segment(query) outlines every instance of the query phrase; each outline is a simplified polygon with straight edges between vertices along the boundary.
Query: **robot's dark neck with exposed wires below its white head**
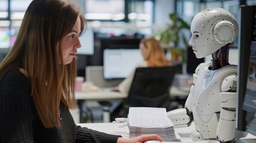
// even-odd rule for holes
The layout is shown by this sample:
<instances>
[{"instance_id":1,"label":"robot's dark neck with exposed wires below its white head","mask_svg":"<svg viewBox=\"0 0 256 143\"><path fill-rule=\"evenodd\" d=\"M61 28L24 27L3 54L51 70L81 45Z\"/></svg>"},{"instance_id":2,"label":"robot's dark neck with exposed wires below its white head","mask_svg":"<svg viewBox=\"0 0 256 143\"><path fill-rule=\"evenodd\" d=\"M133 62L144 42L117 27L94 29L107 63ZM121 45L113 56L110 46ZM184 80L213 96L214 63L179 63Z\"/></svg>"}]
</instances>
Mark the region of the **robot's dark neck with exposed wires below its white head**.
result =
<instances>
[{"instance_id":1,"label":"robot's dark neck with exposed wires below its white head","mask_svg":"<svg viewBox=\"0 0 256 143\"><path fill-rule=\"evenodd\" d=\"M211 70L217 70L221 67L230 65L229 64L229 48L230 43L228 43L225 46L222 46L220 49L218 49L216 52L212 53L212 69Z\"/></svg>"}]
</instances>

